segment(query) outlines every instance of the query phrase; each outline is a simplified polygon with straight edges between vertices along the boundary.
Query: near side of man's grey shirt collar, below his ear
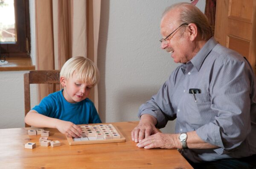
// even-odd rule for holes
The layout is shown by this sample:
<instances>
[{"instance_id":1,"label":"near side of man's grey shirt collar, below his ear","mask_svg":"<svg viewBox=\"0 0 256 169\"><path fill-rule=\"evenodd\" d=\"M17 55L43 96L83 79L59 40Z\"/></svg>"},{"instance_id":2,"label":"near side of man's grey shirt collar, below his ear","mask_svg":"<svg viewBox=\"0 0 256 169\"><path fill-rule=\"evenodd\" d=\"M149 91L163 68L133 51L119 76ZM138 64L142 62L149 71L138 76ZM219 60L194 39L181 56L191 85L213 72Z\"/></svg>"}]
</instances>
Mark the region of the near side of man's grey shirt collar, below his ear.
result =
<instances>
[{"instance_id":1,"label":"near side of man's grey shirt collar, below his ear","mask_svg":"<svg viewBox=\"0 0 256 169\"><path fill-rule=\"evenodd\" d=\"M204 62L204 59L207 57L207 55L212 51L212 48L215 47L218 43L215 41L214 37L211 37L201 48L201 50L191 59L190 62L195 66L195 68L199 71L201 68L201 65Z\"/></svg>"}]
</instances>

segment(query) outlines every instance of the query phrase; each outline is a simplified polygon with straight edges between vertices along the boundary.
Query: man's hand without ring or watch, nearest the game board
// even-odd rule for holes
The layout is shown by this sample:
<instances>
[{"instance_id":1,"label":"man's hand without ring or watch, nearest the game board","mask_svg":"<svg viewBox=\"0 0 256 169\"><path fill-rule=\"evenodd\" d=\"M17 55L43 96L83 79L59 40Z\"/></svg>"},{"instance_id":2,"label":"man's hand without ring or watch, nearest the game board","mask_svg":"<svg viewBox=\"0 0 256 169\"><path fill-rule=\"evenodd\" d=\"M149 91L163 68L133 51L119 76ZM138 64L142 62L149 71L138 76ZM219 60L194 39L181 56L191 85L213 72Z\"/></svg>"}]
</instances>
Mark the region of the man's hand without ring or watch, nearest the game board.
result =
<instances>
[{"instance_id":1,"label":"man's hand without ring or watch, nearest the game board","mask_svg":"<svg viewBox=\"0 0 256 169\"><path fill-rule=\"evenodd\" d=\"M140 123L134 128L134 130L131 131L132 141L137 143L144 138L159 132L155 127L155 124L157 124L156 118L147 114L142 115L140 118Z\"/></svg>"}]
</instances>

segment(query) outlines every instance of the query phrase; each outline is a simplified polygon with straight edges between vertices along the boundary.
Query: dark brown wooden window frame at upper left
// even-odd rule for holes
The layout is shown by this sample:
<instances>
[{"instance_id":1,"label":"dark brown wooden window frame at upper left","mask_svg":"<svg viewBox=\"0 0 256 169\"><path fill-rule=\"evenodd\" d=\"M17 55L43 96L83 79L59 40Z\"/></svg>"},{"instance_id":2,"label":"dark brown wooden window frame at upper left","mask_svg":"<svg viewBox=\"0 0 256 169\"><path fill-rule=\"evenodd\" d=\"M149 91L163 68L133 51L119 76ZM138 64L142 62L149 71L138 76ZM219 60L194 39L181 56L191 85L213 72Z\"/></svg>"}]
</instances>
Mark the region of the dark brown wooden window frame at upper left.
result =
<instances>
[{"instance_id":1,"label":"dark brown wooden window frame at upper left","mask_svg":"<svg viewBox=\"0 0 256 169\"><path fill-rule=\"evenodd\" d=\"M29 0L14 0L17 42L0 42L1 57L30 57Z\"/></svg>"}]
</instances>

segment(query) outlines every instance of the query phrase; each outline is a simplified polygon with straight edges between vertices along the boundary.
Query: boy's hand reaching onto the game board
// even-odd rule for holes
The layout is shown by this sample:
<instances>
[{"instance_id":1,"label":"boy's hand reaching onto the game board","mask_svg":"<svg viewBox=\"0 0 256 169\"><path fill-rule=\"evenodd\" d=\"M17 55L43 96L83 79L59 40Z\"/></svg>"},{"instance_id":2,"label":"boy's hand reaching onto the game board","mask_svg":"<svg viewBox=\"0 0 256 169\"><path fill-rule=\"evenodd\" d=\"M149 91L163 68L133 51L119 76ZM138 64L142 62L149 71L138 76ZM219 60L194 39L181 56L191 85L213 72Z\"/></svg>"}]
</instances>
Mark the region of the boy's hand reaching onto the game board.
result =
<instances>
[{"instance_id":1,"label":"boy's hand reaching onto the game board","mask_svg":"<svg viewBox=\"0 0 256 169\"><path fill-rule=\"evenodd\" d=\"M67 136L72 136L74 138L78 138L81 136L81 132L82 130L77 127L76 124L73 124L70 121L63 121L63 120L59 120L56 123L56 128L63 134L67 135Z\"/></svg>"}]
</instances>

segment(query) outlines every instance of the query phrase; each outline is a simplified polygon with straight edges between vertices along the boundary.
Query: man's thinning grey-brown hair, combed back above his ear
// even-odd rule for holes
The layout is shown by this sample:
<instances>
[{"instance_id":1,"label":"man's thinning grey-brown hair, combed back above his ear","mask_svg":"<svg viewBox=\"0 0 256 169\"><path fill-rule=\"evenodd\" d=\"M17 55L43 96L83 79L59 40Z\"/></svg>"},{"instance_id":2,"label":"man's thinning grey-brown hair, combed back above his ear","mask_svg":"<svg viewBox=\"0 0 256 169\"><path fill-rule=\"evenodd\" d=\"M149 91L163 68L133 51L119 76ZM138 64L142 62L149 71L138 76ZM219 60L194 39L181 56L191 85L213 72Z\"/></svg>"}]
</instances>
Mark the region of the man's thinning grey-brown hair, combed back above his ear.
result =
<instances>
[{"instance_id":1,"label":"man's thinning grey-brown hair, combed back above his ear","mask_svg":"<svg viewBox=\"0 0 256 169\"><path fill-rule=\"evenodd\" d=\"M208 40L210 37L212 37L212 28L207 17L200 11L200 9L190 3L175 3L166 8L162 17L164 17L169 11L176 8L178 8L180 11L180 24L195 23L195 25L198 27L198 31L202 35L202 39Z\"/></svg>"}]
</instances>

